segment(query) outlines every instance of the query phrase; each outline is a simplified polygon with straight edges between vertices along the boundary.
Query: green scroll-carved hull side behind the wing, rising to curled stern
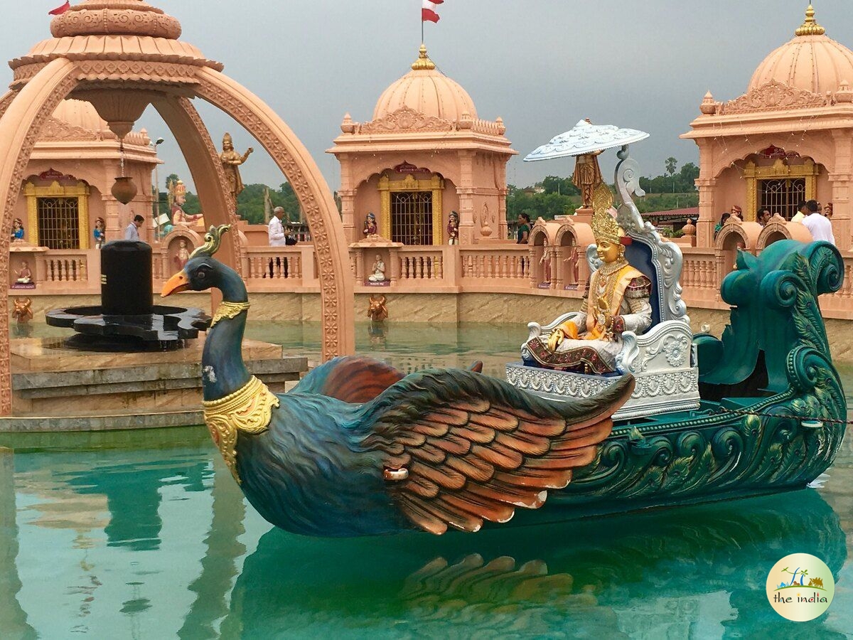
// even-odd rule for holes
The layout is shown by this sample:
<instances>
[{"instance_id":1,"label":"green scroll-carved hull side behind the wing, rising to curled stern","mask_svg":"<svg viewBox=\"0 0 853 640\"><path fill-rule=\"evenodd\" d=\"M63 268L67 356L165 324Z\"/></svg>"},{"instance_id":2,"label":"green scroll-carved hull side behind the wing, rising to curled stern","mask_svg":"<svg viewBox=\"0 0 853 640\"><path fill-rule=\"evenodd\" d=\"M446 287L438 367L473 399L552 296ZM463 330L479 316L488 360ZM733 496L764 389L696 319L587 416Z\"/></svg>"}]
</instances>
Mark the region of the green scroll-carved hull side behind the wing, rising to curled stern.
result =
<instances>
[{"instance_id":1,"label":"green scroll-carved hull side behind the wing, rising to curled stern","mask_svg":"<svg viewBox=\"0 0 853 640\"><path fill-rule=\"evenodd\" d=\"M572 494L588 497L593 491L600 498L648 503L665 495L671 503L672 497L707 492L798 486L814 477L815 469L825 468L832 459L843 430L809 428L804 419L830 419L844 406L844 397L820 353L801 347L792 351L789 363L792 378L811 386L810 391L781 393L753 405L746 415L700 418L692 428L691 422L682 422L680 429L668 433L651 429L632 435L623 428L620 437L605 443L593 465L575 475L560 499L571 503Z\"/></svg>"}]
</instances>

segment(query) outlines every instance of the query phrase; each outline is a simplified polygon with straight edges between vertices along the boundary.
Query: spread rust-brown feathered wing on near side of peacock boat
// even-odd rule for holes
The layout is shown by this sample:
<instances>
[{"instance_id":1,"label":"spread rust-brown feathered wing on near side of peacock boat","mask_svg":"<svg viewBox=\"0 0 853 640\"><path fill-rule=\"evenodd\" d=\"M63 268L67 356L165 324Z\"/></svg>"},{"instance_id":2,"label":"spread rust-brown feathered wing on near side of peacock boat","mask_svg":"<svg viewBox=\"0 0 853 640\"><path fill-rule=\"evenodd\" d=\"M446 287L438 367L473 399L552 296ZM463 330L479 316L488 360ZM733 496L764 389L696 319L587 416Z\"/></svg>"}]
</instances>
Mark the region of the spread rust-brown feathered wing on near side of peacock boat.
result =
<instances>
[{"instance_id":1,"label":"spread rust-brown feathered wing on near side of peacock boat","mask_svg":"<svg viewBox=\"0 0 853 640\"><path fill-rule=\"evenodd\" d=\"M365 405L362 445L380 452L388 489L416 526L475 532L565 487L633 389L626 375L595 398L549 403L485 375L422 371Z\"/></svg>"}]
</instances>

